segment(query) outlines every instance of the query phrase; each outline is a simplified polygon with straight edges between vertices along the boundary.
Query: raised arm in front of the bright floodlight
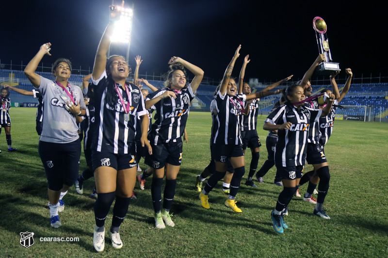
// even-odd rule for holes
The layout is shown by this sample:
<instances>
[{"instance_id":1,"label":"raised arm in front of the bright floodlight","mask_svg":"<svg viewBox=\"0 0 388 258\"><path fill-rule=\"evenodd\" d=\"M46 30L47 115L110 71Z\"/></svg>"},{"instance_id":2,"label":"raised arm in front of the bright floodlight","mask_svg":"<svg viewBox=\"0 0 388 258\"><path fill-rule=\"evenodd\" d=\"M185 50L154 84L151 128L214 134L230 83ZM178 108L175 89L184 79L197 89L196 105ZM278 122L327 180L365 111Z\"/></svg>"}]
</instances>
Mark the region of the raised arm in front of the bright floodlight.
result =
<instances>
[{"instance_id":1,"label":"raised arm in front of the bright floodlight","mask_svg":"<svg viewBox=\"0 0 388 258\"><path fill-rule=\"evenodd\" d=\"M124 1L122 2L122 7L124 8ZM106 66L106 54L108 52L109 46L111 45L111 37L113 35L114 22L120 19L120 12L117 10L116 5L109 6L110 20L109 24L106 27L104 34L102 34L100 43L97 47L96 58L93 65L93 79L97 80L102 73L105 71Z\"/></svg>"}]
</instances>

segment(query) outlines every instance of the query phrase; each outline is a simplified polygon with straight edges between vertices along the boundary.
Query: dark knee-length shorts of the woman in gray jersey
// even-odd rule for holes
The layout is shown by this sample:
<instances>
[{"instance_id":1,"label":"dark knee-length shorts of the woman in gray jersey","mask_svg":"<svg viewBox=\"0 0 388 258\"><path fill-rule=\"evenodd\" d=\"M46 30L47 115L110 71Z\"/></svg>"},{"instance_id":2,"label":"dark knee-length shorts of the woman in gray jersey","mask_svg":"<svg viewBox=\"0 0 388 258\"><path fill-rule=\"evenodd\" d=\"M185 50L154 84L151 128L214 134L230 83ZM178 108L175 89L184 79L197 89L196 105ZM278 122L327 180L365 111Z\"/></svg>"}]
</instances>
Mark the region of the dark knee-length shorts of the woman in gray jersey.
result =
<instances>
[{"instance_id":1,"label":"dark knee-length shorts of the woman in gray jersey","mask_svg":"<svg viewBox=\"0 0 388 258\"><path fill-rule=\"evenodd\" d=\"M59 191L77 180L80 167L81 145L77 140L69 143L39 141L38 152L45 167L49 189Z\"/></svg>"}]
</instances>

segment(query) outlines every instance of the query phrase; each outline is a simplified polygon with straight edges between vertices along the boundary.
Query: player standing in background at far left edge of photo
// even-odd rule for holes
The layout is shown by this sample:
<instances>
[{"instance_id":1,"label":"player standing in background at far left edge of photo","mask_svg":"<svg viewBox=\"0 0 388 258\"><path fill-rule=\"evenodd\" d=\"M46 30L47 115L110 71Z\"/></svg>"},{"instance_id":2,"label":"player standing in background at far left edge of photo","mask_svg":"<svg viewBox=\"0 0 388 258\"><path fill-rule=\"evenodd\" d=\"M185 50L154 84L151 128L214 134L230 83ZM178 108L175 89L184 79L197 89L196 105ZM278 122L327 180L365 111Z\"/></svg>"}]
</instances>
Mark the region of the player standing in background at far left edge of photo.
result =
<instances>
[{"instance_id":1,"label":"player standing in background at far left edge of photo","mask_svg":"<svg viewBox=\"0 0 388 258\"><path fill-rule=\"evenodd\" d=\"M11 118L9 109L11 108L11 99L9 98L9 89L2 87L0 89L0 134L1 128L4 127L5 138L7 139L8 152L16 152L17 149L12 148L11 139ZM1 153L1 151L0 151Z\"/></svg>"}]
</instances>

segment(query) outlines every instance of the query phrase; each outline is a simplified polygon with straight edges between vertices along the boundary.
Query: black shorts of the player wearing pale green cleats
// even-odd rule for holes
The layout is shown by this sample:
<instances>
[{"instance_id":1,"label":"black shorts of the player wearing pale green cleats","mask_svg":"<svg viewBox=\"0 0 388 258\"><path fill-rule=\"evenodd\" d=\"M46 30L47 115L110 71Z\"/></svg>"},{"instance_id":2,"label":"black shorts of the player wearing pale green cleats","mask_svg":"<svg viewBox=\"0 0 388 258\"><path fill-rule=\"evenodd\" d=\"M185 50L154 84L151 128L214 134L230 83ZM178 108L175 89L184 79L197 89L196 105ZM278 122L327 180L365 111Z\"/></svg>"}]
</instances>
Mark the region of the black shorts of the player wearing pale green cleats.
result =
<instances>
[{"instance_id":1,"label":"black shorts of the player wearing pale green cleats","mask_svg":"<svg viewBox=\"0 0 388 258\"><path fill-rule=\"evenodd\" d=\"M166 142L158 145L151 144L152 155L148 152L144 163L149 167L160 169L167 163L173 166L180 166L182 163L183 144L179 142Z\"/></svg>"}]
</instances>

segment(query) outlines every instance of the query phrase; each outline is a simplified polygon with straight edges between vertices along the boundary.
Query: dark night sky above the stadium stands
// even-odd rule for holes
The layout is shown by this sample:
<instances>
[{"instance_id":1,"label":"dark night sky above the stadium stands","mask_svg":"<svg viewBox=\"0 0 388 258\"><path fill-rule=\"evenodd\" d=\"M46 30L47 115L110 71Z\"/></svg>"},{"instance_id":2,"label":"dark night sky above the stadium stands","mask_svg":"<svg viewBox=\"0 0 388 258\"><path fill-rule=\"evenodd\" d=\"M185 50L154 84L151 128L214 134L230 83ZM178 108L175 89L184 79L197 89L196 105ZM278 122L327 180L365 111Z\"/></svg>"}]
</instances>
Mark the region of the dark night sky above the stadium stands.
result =
<instances>
[{"instance_id":1,"label":"dark night sky above the stadium stands","mask_svg":"<svg viewBox=\"0 0 388 258\"><path fill-rule=\"evenodd\" d=\"M134 66L134 57L141 55L140 74L159 74L167 71L171 56L179 56L218 80L241 44L233 76L238 76L243 57L249 54L246 79L274 81L292 74L301 78L318 56L312 20L321 16L327 24L333 61L339 62L342 70L350 67L356 77L378 76L380 72L388 76L386 8L367 2L336 2L126 1L126 7L134 3L129 64ZM75 68L93 67L111 3L1 1L1 63L27 64L43 43L51 42L52 56L44 57L45 65L65 57ZM115 47L111 54L125 56L125 47Z\"/></svg>"}]
</instances>

